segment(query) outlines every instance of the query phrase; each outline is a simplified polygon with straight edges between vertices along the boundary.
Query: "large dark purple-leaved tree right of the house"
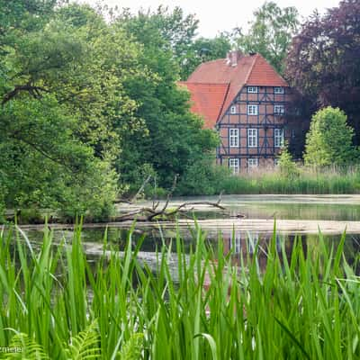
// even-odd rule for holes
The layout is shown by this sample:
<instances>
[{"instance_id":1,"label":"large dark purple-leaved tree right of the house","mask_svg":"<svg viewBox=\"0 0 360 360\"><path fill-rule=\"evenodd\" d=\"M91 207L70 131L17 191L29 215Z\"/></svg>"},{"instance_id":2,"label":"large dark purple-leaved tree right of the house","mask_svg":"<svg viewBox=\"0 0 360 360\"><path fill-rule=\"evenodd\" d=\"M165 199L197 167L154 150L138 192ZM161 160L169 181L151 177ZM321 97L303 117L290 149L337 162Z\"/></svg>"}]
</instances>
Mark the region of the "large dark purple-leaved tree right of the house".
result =
<instances>
[{"instance_id":1,"label":"large dark purple-leaved tree right of the house","mask_svg":"<svg viewBox=\"0 0 360 360\"><path fill-rule=\"evenodd\" d=\"M315 111L343 109L360 144L360 2L345 0L327 14L313 14L293 38L285 76Z\"/></svg>"}]
</instances>

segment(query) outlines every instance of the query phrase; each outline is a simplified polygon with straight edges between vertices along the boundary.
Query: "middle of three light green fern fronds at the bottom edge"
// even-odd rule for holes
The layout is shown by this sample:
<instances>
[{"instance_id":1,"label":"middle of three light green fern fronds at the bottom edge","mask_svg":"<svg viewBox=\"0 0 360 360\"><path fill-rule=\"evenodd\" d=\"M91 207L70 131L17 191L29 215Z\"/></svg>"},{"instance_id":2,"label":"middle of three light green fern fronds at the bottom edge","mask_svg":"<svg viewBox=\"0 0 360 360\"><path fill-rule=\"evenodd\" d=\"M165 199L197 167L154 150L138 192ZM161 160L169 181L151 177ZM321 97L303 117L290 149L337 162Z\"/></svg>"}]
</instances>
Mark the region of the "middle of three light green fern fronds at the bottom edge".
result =
<instances>
[{"instance_id":1,"label":"middle of three light green fern fronds at the bottom edge","mask_svg":"<svg viewBox=\"0 0 360 360\"><path fill-rule=\"evenodd\" d=\"M84 331L71 338L67 355L72 360L90 360L100 358L97 323L93 321Z\"/></svg>"}]
</instances>

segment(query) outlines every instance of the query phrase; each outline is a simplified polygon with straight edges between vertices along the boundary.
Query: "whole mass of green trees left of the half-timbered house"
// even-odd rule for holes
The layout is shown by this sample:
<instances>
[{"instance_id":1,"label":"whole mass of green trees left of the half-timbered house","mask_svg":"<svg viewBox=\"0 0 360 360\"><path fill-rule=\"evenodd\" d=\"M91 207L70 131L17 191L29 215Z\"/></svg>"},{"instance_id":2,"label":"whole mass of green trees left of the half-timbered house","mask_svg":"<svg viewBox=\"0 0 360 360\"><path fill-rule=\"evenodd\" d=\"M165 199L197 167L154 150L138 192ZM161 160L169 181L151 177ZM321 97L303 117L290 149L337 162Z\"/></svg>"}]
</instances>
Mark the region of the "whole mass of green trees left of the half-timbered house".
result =
<instances>
[{"instance_id":1,"label":"whole mass of green trees left of the half-timbered house","mask_svg":"<svg viewBox=\"0 0 360 360\"><path fill-rule=\"evenodd\" d=\"M159 8L109 23L85 4L0 5L0 202L7 207L106 217L143 169L166 186L216 146L176 85L193 16Z\"/></svg>"}]
</instances>

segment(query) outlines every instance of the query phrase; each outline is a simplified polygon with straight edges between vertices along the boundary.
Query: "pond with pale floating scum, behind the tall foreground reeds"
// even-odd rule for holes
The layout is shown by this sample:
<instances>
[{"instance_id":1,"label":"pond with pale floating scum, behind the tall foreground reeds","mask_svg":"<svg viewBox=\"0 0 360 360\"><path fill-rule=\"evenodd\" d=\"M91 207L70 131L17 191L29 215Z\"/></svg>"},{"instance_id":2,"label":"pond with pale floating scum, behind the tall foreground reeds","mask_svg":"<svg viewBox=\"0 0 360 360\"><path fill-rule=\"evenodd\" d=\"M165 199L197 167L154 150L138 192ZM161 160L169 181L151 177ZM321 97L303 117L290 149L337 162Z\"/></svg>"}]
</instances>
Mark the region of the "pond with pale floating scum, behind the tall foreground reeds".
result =
<instances>
[{"instance_id":1,"label":"pond with pale floating scum, behind the tall foreground reeds","mask_svg":"<svg viewBox=\"0 0 360 360\"><path fill-rule=\"evenodd\" d=\"M175 207L182 202L217 202L217 197L178 198L170 202ZM148 206L148 202L136 206ZM209 206L196 206L191 212L206 232L211 244L216 245L221 238L223 249L231 249L235 257L246 252L252 253L258 243L261 249L266 248L273 237L276 220L276 244L285 241L285 248L291 252L293 239L302 238L307 251L316 249L319 229L329 244L337 244L340 235L347 229L345 254L348 260L356 257L360 250L360 196L358 195L225 195L221 205L227 211L215 210ZM122 204L118 211L126 212L134 205ZM245 219L238 219L241 214ZM112 247L123 250L126 244L131 222L108 224L108 240ZM68 226L50 225L54 231L55 242L67 238L70 242L73 229ZM169 245L178 231L184 239L185 251L195 245L192 231L193 220L181 220L178 223L166 221L163 224L139 222L135 226L134 241L145 235L140 257L148 263L157 261L156 251L163 244ZM40 243L42 231L39 227L23 227L33 243ZM85 224L83 241L89 257L102 253L103 224ZM175 244L173 244L175 249ZM259 256L262 252L259 251ZM266 262L265 251L263 251Z\"/></svg>"}]
</instances>

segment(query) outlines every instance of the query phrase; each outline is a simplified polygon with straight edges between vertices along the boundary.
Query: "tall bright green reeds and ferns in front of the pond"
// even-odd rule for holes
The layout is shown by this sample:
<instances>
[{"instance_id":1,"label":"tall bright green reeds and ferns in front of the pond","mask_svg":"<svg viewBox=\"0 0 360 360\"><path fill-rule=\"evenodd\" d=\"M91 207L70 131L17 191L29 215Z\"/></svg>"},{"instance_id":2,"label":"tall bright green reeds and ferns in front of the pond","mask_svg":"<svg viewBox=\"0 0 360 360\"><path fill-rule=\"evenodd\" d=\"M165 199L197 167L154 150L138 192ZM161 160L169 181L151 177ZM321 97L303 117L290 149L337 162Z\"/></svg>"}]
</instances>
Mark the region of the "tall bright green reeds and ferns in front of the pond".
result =
<instances>
[{"instance_id":1,"label":"tall bright green reeds and ferns in front of the pond","mask_svg":"<svg viewBox=\"0 0 360 360\"><path fill-rule=\"evenodd\" d=\"M15 244L2 234L0 344L23 348L3 358L359 358L360 281L345 236L335 248L319 234L312 254L295 241L289 256L274 235L261 273L257 256L237 268L221 239L212 250L200 229L193 237L187 255L175 238L175 270L164 246L154 274L131 232L123 257L104 251L95 264L81 229L60 247L45 229L40 250L19 231Z\"/></svg>"}]
</instances>

